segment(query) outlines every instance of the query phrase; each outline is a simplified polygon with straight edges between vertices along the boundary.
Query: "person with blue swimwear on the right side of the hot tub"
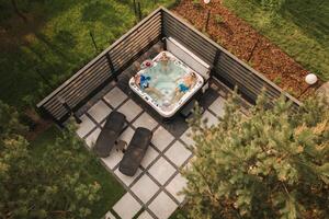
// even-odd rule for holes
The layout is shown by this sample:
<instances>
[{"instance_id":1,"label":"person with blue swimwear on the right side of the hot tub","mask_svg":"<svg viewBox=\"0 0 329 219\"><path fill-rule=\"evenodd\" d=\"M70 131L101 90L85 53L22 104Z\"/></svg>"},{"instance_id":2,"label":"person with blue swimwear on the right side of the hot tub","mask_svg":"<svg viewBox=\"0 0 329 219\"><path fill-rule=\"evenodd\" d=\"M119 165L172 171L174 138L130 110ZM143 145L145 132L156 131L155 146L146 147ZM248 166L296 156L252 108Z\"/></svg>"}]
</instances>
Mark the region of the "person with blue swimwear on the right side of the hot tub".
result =
<instances>
[{"instance_id":1,"label":"person with blue swimwear on the right side of the hot tub","mask_svg":"<svg viewBox=\"0 0 329 219\"><path fill-rule=\"evenodd\" d=\"M174 91L172 102L179 101L196 82L196 74L192 71L178 80L178 88Z\"/></svg>"}]
</instances>

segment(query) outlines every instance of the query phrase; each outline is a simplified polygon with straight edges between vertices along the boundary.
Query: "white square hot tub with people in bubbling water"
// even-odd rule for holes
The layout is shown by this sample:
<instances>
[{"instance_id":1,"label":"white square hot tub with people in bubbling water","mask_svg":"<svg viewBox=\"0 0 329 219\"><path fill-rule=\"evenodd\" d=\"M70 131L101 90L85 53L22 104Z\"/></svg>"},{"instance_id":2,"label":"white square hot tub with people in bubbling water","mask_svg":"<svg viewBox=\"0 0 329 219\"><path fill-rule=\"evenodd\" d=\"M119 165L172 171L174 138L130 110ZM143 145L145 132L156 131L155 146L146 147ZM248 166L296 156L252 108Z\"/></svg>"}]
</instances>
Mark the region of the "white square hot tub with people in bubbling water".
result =
<instances>
[{"instance_id":1,"label":"white square hot tub with people in bubbling water","mask_svg":"<svg viewBox=\"0 0 329 219\"><path fill-rule=\"evenodd\" d=\"M178 113L203 83L202 76L169 51L143 62L141 70L129 80L131 89L166 118Z\"/></svg>"}]
</instances>

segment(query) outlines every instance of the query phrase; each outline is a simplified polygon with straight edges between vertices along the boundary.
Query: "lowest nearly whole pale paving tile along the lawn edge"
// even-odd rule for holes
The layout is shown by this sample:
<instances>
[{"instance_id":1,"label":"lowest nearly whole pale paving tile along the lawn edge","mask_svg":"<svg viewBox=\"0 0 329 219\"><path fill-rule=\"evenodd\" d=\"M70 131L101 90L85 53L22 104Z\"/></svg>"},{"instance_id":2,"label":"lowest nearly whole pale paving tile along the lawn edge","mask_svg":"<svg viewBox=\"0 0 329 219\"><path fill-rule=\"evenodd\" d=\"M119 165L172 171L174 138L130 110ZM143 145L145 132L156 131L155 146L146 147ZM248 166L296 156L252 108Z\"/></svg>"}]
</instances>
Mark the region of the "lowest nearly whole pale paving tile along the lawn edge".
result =
<instances>
[{"instance_id":1,"label":"lowest nearly whole pale paving tile along the lawn edge","mask_svg":"<svg viewBox=\"0 0 329 219\"><path fill-rule=\"evenodd\" d=\"M129 194L126 193L114 206L113 210L122 219L132 219L141 208L140 204Z\"/></svg>"}]
</instances>

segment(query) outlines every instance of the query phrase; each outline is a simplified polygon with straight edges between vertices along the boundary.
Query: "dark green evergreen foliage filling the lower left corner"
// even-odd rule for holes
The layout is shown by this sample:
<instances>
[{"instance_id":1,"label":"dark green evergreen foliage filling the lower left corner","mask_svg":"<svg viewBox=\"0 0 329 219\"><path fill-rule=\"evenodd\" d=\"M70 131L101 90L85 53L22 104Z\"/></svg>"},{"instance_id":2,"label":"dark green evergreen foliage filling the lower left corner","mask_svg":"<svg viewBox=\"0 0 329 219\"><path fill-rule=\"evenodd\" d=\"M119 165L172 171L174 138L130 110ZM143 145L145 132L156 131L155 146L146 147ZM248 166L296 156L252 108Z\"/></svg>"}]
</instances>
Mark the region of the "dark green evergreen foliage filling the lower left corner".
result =
<instances>
[{"instance_id":1,"label":"dark green evergreen foliage filling the lower left corner","mask_svg":"<svg viewBox=\"0 0 329 219\"><path fill-rule=\"evenodd\" d=\"M35 160L18 117L0 102L0 218L86 218L100 185L83 183L91 158L81 153L86 149L73 127Z\"/></svg>"}]
</instances>

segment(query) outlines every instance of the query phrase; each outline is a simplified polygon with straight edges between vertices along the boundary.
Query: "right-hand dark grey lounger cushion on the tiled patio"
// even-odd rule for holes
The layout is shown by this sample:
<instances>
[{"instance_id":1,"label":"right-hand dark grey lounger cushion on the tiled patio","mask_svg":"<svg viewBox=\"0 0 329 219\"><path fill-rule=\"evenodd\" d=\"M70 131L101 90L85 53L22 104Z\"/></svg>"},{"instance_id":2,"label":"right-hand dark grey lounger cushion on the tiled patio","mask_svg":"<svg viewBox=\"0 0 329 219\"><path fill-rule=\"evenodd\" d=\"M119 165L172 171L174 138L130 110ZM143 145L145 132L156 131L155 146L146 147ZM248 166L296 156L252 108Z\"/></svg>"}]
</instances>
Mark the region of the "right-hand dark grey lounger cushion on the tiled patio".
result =
<instances>
[{"instance_id":1,"label":"right-hand dark grey lounger cushion on the tiled patio","mask_svg":"<svg viewBox=\"0 0 329 219\"><path fill-rule=\"evenodd\" d=\"M134 176L151 141L152 131L137 128L133 139L120 162L118 170L125 175Z\"/></svg>"}]
</instances>

